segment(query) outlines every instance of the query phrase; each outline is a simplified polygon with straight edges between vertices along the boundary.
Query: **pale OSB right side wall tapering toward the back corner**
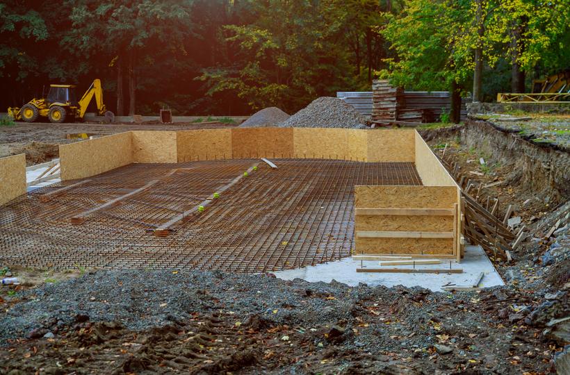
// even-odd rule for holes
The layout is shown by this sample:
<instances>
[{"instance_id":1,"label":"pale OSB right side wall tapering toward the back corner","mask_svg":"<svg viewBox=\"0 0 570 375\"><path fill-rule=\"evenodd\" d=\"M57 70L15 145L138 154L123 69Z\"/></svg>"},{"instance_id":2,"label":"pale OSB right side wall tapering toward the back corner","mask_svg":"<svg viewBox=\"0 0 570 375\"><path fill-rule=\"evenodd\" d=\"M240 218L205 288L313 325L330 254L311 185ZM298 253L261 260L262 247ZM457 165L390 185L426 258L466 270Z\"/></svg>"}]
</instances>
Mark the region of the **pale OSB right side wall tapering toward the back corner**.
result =
<instances>
[{"instance_id":1,"label":"pale OSB right side wall tapering toward the back corner","mask_svg":"<svg viewBox=\"0 0 570 375\"><path fill-rule=\"evenodd\" d=\"M416 144L416 169L425 186L457 186L445 167L425 143L421 135L414 131Z\"/></svg>"}]
</instances>

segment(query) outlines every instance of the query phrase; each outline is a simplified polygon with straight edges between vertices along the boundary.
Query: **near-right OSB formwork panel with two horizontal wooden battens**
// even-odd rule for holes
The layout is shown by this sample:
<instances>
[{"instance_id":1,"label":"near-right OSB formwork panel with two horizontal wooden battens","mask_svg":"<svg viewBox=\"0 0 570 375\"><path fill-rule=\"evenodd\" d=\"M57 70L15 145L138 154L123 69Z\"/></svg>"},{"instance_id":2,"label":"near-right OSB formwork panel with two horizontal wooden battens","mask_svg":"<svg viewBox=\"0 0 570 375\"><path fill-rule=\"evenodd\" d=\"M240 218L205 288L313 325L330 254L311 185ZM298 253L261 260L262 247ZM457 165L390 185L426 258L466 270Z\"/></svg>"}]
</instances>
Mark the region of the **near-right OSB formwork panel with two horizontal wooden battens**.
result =
<instances>
[{"instance_id":1,"label":"near-right OSB formwork panel with two horizontal wooden battens","mask_svg":"<svg viewBox=\"0 0 570 375\"><path fill-rule=\"evenodd\" d=\"M356 253L457 256L457 187L356 186Z\"/></svg>"}]
</instances>

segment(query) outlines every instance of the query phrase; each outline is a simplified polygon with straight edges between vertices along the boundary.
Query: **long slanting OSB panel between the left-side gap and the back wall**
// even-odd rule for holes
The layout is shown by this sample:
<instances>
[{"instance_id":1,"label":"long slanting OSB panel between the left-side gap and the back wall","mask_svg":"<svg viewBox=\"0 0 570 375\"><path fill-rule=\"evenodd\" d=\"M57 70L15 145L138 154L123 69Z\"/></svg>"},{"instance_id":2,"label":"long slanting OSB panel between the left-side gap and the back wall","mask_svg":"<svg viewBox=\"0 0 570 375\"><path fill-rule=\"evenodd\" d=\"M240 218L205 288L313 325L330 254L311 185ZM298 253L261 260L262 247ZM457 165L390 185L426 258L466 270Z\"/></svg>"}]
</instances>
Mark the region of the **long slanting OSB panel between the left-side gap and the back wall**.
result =
<instances>
[{"instance_id":1,"label":"long slanting OSB panel between the left-side gap and the back wall","mask_svg":"<svg viewBox=\"0 0 570 375\"><path fill-rule=\"evenodd\" d=\"M61 179L95 176L133 163L132 132L106 135L93 140L60 144Z\"/></svg>"}]
</instances>

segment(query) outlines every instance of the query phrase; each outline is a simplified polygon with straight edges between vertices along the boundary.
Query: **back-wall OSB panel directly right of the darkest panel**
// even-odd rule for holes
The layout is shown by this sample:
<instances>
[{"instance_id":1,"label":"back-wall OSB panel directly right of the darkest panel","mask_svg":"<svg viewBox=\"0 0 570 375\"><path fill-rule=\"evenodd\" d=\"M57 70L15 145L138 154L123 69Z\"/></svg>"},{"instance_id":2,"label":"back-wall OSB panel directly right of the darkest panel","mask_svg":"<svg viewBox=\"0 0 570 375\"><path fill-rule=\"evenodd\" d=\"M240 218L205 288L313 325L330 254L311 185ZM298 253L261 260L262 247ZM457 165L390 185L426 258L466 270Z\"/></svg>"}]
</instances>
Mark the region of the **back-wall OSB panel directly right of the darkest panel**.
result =
<instances>
[{"instance_id":1,"label":"back-wall OSB panel directly right of the darkest panel","mask_svg":"<svg viewBox=\"0 0 570 375\"><path fill-rule=\"evenodd\" d=\"M295 158L347 159L348 129L293 128L293 153Z\"/></svg>"}]
</instances>

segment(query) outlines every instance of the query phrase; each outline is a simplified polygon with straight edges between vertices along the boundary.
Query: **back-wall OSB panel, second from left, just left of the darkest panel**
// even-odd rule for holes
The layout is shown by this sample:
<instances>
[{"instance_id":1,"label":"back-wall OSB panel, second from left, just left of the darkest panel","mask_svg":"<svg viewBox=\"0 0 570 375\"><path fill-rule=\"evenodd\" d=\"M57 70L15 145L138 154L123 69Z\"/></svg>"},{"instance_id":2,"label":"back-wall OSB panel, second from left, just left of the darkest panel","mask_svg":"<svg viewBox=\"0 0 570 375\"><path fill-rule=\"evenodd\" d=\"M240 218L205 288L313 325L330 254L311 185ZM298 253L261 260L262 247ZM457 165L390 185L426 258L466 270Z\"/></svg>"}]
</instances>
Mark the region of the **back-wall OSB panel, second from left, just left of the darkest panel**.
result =
<instances>
[{"instance_id":1,"label":"back-wall OSB panel, second from left, just left of the darkest panel","mask_svg":"<svg viewBox=\"0 0 570 375\"><path fill-rule=\"evenodd\" d=\"M178 162L231 159L232 129L177 131Z\"/></svg>"}]
</instances>

